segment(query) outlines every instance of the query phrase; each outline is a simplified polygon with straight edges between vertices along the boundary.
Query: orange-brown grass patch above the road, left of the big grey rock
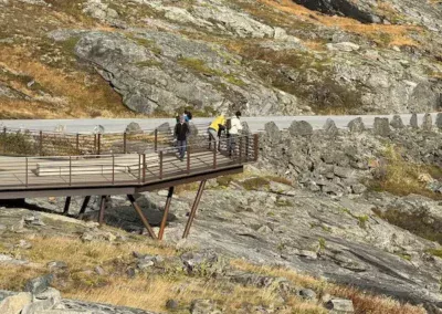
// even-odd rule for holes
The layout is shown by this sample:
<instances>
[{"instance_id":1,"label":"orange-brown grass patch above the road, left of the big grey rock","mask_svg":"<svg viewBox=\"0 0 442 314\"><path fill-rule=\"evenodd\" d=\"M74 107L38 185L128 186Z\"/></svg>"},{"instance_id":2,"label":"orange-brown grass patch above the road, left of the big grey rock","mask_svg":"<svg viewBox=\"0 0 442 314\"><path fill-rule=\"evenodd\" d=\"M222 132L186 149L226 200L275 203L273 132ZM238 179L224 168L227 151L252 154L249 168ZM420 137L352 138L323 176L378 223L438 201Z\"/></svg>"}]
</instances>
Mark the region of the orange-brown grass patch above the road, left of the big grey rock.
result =
<instances>
[{"instance_id":1,"label":"orange-brown grass patch above the road, left of the big grey rock","mask_svg":"<svg viewBox=\"0 0 442 314\"><path fill-rule=\"evenodd\" d=\"M35 61L24 48L0 48L0 66L11 73L33 77L53 95L41 102L0 101L0 112L8 113L9 116L30 117L32 113L34 118L143 116L125 107L120 96L97 74L65 73L61 69ZM38 96L35 92L27 90L24 83L12 81L11 85L30 96ZM55 101L52 102L53 100ZM27 107L27 104L31 105Z\"/></svg>"}]
</instances>

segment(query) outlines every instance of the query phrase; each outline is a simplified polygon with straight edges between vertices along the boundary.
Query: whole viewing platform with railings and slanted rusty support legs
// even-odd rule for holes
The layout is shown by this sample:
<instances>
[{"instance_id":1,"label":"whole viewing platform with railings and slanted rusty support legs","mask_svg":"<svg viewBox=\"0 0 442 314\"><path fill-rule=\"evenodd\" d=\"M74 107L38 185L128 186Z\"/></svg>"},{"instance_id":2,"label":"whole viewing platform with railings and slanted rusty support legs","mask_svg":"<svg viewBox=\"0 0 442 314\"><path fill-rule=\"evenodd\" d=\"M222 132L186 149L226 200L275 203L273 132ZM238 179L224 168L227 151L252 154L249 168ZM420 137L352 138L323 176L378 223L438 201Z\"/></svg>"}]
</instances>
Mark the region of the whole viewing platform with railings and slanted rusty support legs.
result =
<instances>
[{"instance_id":1,"label":"whole viewing platform with railings and slanted rusty support legs","mask_svg":"<svg viewBox=\"0 0 442 314\"><path fill-rule=\"evenodd\" d=\"M156 129L135 135L114 134L112 137L82 135L84 140L87 138L84 143L90 145L90 148L85 149L78 146L80 135L75 135L75 140L72 143L72 135L66 134L3 129L3 135L0 135L0 146L3 148L0 155L0 199L62 196L66 197L64 213L67 213L71 197L84 196L80 211L82 217L91 196L98 195L102 196L98 221L103 223L106 196L127 195L149 236L157 238L133 196L168 188L169 193L158 234L161 239L173 188L200 181L183 233L186 238L206 181L219 176L242 172L245 164L257 159L257 135L239 136L234 154L230 157L227 150L228 139L221 138L217 146L210 142L204 132L206 126L202 126L199 134L203 135L190 138L186 157L180 160L176 155L178 148L173 146L171 130ZM104 138L106 140L103 140ZM109 147L117 153L92 154L109 150ZM27 148L30 154L27 154ZM48 151L63 153L61 155L65 156L45 156ZM70 151L74 154L66 154ZM31 154L35 156L23 156Z\"/></svg>"}]
</instances>

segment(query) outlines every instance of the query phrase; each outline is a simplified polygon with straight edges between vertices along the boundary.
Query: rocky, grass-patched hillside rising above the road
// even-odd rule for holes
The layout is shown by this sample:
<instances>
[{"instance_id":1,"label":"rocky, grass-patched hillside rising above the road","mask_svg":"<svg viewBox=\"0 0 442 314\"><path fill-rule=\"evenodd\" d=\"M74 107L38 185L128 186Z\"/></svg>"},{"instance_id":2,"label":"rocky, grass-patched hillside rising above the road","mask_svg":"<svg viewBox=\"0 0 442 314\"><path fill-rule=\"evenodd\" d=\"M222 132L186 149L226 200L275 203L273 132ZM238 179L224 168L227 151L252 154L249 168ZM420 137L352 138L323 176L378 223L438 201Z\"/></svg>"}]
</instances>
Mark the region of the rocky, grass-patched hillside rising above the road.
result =
<instances>
[{"instance_id":1,"label":"rocky, grass-patched hillside rising above the road","mask_svg":"<svg viewBox=\"0 0 442 314\"><path fill-rule=\"evenodd\" d=\"M27 104L39 116L50 107L57 108L53 116L128 114L122 102L149 115L183 107L197 115L238 108L248 115L441 108L438 1L0 6L0 97L3 111L12 108L10 116L29 115ZM29 15L42 18L23 23ZM63 80L53 80L55 74ZM91 100L96 92L101 97Z\"/></svg>"}]
</instances>

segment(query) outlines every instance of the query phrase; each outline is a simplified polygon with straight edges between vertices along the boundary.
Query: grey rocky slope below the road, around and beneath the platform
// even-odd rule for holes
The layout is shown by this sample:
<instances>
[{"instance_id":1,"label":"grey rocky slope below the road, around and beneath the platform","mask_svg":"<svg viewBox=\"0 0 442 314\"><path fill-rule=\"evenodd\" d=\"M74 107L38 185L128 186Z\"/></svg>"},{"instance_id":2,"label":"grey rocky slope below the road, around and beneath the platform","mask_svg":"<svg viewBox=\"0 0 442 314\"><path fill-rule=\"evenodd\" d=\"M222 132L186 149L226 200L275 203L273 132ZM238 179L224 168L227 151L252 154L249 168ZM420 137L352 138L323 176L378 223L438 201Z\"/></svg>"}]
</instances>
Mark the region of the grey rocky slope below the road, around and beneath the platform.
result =
<instances>
[{"instance_id":1,"label":"grey rocky slope below the road, around and beneath the platform","mask_svg":"<svg viewBox=\"0 0 442 314\"><path fill-rule=\"evenodd\" d=\"M217 284L234 282L265 290L274 289L276 282L282 289L283 281L283 286L297 286L290 289L290 296L286 295L287 290L283 289L277 290L277 295L271 300L251 302L253 306L263 302L265 306L262 313L285 313L286 310L297 308L298 305L295 306L293 302L298 297L309 299L309 304L317 306L315 311L318 311L303 308L304 312L299 310L299 313L323 313L320 311L330 306L327 303L329 297L351 300L356 313L424 313L423 308L428 313L441 313L441 123L442 114L434 124L427 116L421 126L415 124L413 117L407 127L398 117L390 122L377 119L373 129L365 129L358 118L350 122L346 130L336 129L333 121L328 121L319 130L313 130L305 122L295 121L287 130L278 130L273 123L269 123L261 136L261 157L254 166L248 167L243 175L208 182L187 241L181 240L181 234L197 186L178 187L165 236L167 243L173 245L176 251L160 251L159 254L180 255L181 260L165 258L166 265L162 266L157 265L159 262L151 253L151 250L159 250L155 249L158 243L148 242L147 247L143 244L144 241L134 243L138 238L128 238L128 233L122 230L108 227L97 229L94 222L53 214L63 210L62 198L29 199L28 205L21 203L15 209L0 211L3 223L0 237L4 242L2 252L7 257L3 261L12 261L22 270L24 265L29 268L29 263L41 264L42 260L49 263L53 259L61 259L72 268L70 275L62 272L54 283L63 293L73 299L119 305L136 306L137 301L125 303L103 296L101 291L105 287L110 290L115 284L107 275L137 278L143 285L146 283L146 271L149 275L159 272L169 279L177 275L173 270L185 268L188 274L194 275L193 271L198 270L199 275L214 276ZM137 202L154 226L160 223L166 196L166 190L137 196ZM74 217L81 203L81 198L74 199L71 212ZM23 207L28 209L21 209ZM91 203L84 219L95 221L97 209L98 198ZM131 234L145 232L125 197L109 198L105 221L107 226ZM65 226L61 227L61 223ZM158 227L155 229L157 231ZM40 237L49 240L41 240ZM39 255L33 251L32 245L38 250L39 245L48 245L44 241L54 241L53 237L81 240L83 245L76 242L67 244L78 252L85 250L84 254L94 259L85 258L86 265L83 265L82 253L78 253L78 260L82 261L78 265L77 258L63 257L63 250L66 250L63 245L54 249L57 250L56 254L50 251ZM61 240L61 243L64 241L67 240ZM88 251L90 242L93 245L112 242L117 247L123 245L124 251L112 251L110 258L104 259L102 251ZM130 257L125 245L133 243L141 245L143 250L150 250L148 258L140 253ZM149 245L154 245L154 249ZM98 265L106 273L96 270ZM2 270L0 268L0 272ZM248 270L246 274L244 270ZM290 271L296 271L297 274ZM97 272L102 272L98 278ZM265 278L256 278L263 273ZM275 273L278 274L277 280ZM28 279L33 272L28 269L24 274ZM314 283L299 281L301 274L314 276ZM327 283L322 280L327 280ZM185 281L193 284L190 278L186 276ZM91 286L84 290L86 282L91 282ZM332 282L347 287L330 287ZM170 290L176 291L177 285L173 283ZM409 305L399 303L392 303L391 306L383 303L381 306L375 305L372 300L361 300L360 293L349 292L348 286L365 291L367 297L370 297L370 293L383 294L421 307L407 307ZM18 281L2 283L0 287L21 289L22 285ZM210 289L218 293L228 287ZM231 286L229 289L232 291ZM311 291L306 292L308 289ZM122 293L119 290L110 291L114 294ZM224 313L253 313L256 310L252 305L248 307L235 303L233 306L233 301L222 302L220 299L223 296L208 295L207 290L201 293L207 297L204 300L209 300L204 302L211 304L208 305L212 308L210 311L214 311L201 313L218 313L218 310ZM241 293L232 297L240 300L240 295L252 295L250 291ZM186 311L193 311L193 299L175 292L166 295L183 302L189 306ZM218 305L214 305L215 301ZM165 308L166 300L159 302L143 308ZM232 306L236 310L241 307L243 312L235 312Z\"/></svg>"}]
</instances>

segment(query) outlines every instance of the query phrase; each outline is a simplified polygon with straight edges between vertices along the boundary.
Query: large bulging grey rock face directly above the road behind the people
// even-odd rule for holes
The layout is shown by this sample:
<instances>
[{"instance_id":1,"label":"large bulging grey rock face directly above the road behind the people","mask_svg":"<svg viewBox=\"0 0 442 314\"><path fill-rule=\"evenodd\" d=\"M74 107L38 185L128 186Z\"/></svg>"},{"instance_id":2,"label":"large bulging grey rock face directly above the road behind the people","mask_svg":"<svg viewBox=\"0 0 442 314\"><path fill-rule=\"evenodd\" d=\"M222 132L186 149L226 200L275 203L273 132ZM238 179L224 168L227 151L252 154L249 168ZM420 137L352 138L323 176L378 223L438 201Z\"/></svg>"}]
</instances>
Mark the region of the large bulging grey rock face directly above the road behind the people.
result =
<instances>
[{"instance_id":1,"label":"large bulging grey rock face directly above the road behind the people","mask_svg":"<svg viewBox=\"0 0 442 314\"><path fill-rule=\"evenodd\" d=\"M286 94L283 100L281 92L265 87L257 77L249 77L243 84L244 70L227 63L228 51L171 33L145 31L131 38L117 33L84 33L75 54L98 64L99 74L135 112L172 113L186 106L200 111L204 107L227 109L235 104L249 115L276 114L283 112L280 103L293 113L301 112L295 96ZM219 84L229 88L218 88Z\"/></svg>"}]
</instances>

